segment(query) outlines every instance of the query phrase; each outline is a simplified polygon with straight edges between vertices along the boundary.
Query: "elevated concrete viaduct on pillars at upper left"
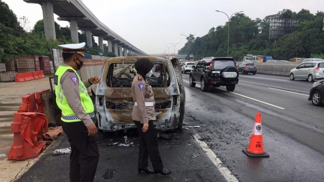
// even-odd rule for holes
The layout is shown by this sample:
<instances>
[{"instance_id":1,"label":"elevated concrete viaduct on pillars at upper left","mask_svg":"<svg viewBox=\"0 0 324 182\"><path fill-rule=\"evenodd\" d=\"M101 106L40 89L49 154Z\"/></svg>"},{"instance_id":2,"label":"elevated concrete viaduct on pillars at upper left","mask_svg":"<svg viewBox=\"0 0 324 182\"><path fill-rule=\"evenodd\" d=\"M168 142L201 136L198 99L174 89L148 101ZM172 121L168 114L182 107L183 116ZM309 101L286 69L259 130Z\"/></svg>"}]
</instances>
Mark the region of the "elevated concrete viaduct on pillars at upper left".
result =
<instances>
[{"instance_id":1,"label":"elevated concrete viaduct on pillars at upper left","mask_svg":"<svg viewBox=\"0 0 324 182\"><path fill-rule=\"evenodd\" d=\"M44 30L47 40L56 40L54 13L59 16L59 20L68 21L71 29L71 40L79 43L78 30L86 32L87 46L92 47L92 37L97 36L99 48L103 50L103 41L108 41L108 51L116 56L127 55L147 55L140 49L130 44L127 40L112 31L103 24L85 6L81 0L24 0L27 3L38 3L43 9Z\"/></svg>"}]
</instances>

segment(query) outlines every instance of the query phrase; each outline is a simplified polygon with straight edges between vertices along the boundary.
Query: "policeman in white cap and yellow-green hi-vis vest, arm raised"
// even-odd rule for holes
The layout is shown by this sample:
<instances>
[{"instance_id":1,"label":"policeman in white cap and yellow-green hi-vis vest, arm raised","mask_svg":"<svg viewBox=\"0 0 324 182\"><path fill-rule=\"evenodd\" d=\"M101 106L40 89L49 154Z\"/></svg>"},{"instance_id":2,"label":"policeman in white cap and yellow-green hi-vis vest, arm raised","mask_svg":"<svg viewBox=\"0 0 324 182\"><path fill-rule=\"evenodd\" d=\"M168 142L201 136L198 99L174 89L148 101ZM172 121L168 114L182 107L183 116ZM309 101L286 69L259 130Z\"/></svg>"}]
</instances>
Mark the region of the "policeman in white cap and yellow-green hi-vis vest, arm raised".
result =
<instances>
[{"instance_id":1,"label":"policeman in white cap and yellow-green hi-vis vest, arm raised","mask_svg":"<svg viewBox=\"0 0 324 182\"><path fill-rule=\"evenodd\" d=\"M93 182L99 161L95 135L97 128L91 117L94 106L87 88L100 83L98 77L81 81L76 73L83 64L85 43L59 45L64 63L54 76L56 103L62 110L62 127L71 146L70 182Z\"/></svg>"}]
</instances>

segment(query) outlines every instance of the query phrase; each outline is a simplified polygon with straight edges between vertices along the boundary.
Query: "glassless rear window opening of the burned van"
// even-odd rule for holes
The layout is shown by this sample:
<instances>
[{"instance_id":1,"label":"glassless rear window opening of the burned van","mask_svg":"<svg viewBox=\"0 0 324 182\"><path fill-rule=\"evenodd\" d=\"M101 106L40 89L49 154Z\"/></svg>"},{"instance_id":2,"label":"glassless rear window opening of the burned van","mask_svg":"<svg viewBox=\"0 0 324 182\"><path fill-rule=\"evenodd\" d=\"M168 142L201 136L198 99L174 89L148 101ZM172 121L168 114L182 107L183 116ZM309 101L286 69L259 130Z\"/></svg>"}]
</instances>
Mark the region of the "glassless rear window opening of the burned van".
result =
<instances>
[{"instance_id":1,"label":"glassless rear window opening of the burned van","mask_svg":"<svg viewBox=\"0 0 324 182\"><path fill-rule=\"evenodd\" d=\"M110 64L107 73L107 86L112 88L131 88L131 83L136 75L133 63ZM166 65L155 63L151 77L146 77L151 87L163 88L170 86L170 77Z\"/></svg>"}]
</instances>

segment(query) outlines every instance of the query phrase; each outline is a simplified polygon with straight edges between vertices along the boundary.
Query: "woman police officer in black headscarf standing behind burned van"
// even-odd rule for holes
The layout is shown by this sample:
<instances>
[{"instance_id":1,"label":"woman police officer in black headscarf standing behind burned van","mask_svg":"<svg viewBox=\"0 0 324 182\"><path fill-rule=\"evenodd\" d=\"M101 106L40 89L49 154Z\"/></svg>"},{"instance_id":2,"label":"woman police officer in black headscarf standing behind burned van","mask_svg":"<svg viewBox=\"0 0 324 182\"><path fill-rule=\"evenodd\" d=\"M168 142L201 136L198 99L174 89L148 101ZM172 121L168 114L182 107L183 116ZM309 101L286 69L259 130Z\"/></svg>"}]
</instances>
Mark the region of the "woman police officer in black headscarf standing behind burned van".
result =
<instances>
[{"instance_id":1,"label":"woman police officer in black headscarf standing behind burned van","mask_svg":"<svg viewBox=\"0 0 324 182\"><path fill-rule=\"evenodd\" d=\"M163 168L161 156L159 153L153 120L156 120L154 110L154 94L152 87L145 79L152 75L154 64L148 59L142 58L135 63L137 71L132 85L132 97L134 106L132 110L132 119L138 128L139 155L138 155L138 173L144 171L146 173L160 173L168 175L171 171ZM147 167L148 156L154 169L154 172Z\"/></svg>"}]
</instances>

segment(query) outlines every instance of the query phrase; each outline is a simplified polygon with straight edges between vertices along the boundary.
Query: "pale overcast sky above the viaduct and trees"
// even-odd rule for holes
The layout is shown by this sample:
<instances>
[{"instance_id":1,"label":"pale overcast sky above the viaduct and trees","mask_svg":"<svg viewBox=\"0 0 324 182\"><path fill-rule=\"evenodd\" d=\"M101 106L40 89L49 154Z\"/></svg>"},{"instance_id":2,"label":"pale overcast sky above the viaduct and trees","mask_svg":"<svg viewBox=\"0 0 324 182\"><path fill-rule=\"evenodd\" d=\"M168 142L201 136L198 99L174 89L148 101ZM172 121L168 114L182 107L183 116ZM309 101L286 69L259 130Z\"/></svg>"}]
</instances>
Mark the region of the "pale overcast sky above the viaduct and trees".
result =
<instances>
[{"instance_id":1,"label":"pale overcast sky above the viaduct and trees","mask_svg":"<svg viewBox=\"0 0 324 182\"><path fill-rule=\"evenodd\" d=\"M23 0L2 0L6 2L17 17L27 16L29 27L43 19L39 4ZM228 21L223 13L237 11L252 19L275 14L282 9L295 12L302 8L315 14L324 11L324 0L82 0L83 3L110 29L145 53L163 53L170 43L179 43L176 50L187 42L180 34L205 35L211 27L224 25ZM61 26L67 21L55 20ZM105 43L105 42L104 42ZM176 51L177 52L177 51ZM206 55L208 56L208 55Z\"/></svg>"}]
</instances>

